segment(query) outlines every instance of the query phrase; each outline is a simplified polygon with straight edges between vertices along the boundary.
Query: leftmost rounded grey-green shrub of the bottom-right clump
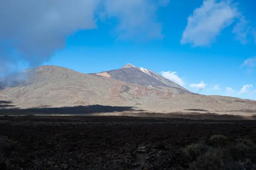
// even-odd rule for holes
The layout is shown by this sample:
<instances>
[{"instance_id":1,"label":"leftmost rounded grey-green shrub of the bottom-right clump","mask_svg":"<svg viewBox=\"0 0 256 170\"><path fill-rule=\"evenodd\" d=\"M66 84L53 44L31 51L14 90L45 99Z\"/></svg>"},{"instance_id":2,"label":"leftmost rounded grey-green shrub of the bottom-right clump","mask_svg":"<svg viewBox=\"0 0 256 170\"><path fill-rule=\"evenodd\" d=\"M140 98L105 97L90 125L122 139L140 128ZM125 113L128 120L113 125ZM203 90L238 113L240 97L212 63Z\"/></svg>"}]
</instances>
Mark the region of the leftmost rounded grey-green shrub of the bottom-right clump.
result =
<instances>
[{"instance_id":1,"label":"leftmost rounded grey-green shrub of the bottom-right clump","mask_svg":"<svg viewBox=\"0 0 256 170\"><path fill-rule=\"evenodd\" d=\"M205 144L191 144L183 149L184 155L190 160L195 161L198 156L204 154L207 151Z\"/></svg>"}]
</instances>

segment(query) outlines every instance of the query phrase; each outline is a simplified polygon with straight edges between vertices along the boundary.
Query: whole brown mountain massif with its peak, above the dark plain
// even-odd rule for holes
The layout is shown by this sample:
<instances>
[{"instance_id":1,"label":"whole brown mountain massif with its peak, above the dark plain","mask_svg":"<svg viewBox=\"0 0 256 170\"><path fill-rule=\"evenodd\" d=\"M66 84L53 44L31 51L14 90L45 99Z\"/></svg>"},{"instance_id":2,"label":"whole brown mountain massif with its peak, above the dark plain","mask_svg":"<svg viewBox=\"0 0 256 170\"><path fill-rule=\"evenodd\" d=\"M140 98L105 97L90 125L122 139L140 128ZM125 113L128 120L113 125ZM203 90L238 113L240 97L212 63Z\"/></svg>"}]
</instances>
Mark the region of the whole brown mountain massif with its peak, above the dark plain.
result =
<instances>
[{"instance_id":1,"label":"whole brown mountain massif with its peak, above the dark plain","mask_svg":"<svg viewBox=\"0 0 256 170\"><path fill-rule=\"evenodd\" d=\"M256 101L195 94L152 71L142 70L126 65L108 72L84 74L59 66L40 66L27 71L27 84L1 89L0 103L5 101L2 104L20 108L99 104L150 112L204 110L247 115L256 110Z\"/></svg>"}]
</instances>

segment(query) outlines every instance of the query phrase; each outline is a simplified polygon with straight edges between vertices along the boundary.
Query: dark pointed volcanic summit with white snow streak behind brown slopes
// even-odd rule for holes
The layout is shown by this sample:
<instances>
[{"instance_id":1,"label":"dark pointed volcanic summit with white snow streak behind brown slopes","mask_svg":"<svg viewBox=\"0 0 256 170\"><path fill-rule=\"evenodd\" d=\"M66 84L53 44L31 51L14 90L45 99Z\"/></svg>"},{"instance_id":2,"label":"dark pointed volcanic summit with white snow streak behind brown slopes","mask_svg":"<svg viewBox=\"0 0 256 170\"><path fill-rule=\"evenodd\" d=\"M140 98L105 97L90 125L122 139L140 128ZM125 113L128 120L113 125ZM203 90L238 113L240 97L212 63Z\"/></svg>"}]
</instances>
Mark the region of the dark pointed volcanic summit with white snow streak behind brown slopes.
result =
<instances>
[{"instance_id":1,"label":"dark pointed volcanic summit with white snow streak behind brown slopes","mask_svg":"<svg viewBox=\"0 0 256 170\"><path fill-rule=\"evenodd\" d=\"M124 81L129 84L139 84L148 87L169 87L173 91L180 94L192 93L188 89L170 81L167 78L142 67L136 67L132 64L126 64L120 69L114 69L106 72L96 73L96 75L107 76L115 80Z\"/></svg>"}]
</instances>

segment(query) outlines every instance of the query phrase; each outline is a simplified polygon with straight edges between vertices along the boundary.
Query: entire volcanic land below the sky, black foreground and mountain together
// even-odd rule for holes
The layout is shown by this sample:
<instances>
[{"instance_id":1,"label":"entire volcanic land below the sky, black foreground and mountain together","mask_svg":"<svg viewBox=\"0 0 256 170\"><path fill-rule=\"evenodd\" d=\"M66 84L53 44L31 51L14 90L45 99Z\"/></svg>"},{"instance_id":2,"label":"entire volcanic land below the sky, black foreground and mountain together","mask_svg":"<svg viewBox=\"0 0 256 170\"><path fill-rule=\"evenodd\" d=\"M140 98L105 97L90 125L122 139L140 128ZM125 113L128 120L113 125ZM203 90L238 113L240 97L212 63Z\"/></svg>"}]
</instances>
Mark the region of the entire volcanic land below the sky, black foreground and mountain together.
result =
<instances>
[{"instance_id":1,"label":"entire volcanic land below the sky, black foreground and mountain together","mask_svg":"<svg viewBox=\"0 0 256 170\"><path fill-rule=\"evenodd\" d=\"M192 93L131 64L23 73L0 88L0 170L256 169L256 101Z\"/></svg>"}]
</instances>

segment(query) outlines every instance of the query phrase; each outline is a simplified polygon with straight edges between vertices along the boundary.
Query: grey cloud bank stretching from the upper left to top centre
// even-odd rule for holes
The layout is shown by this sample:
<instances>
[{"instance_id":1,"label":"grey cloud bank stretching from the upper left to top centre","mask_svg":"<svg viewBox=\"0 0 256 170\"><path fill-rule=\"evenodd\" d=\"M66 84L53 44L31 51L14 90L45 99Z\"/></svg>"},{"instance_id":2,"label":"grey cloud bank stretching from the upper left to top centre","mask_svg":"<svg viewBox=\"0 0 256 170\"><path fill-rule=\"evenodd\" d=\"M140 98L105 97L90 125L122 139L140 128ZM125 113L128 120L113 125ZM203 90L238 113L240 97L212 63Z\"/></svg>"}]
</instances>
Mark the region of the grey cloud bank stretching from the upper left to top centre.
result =
<instances>
[{"instance_id":1,"label":"grey cloud bank stretching from the upper left to top centre","mask_svg":"<svg viewBox=\"0 0 256 170\"><path fill-rule=\"evenodd\" d=\"M4 0L0 5L0 68L27 61L32 67L47 61L66 38L96 29L102 18L117 18L121 38L161 38L157 9L168 0ZM99 17L101 15L101 17ZM102 20L103 22L104 20Z\"/></svg>"}]
</instances>

